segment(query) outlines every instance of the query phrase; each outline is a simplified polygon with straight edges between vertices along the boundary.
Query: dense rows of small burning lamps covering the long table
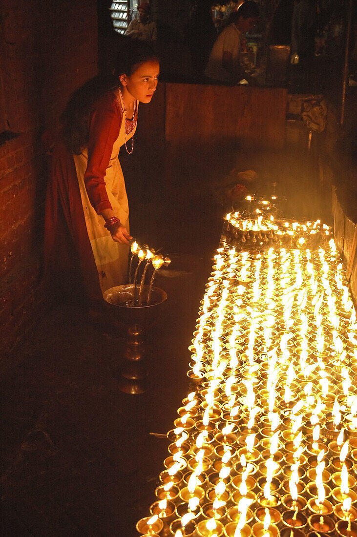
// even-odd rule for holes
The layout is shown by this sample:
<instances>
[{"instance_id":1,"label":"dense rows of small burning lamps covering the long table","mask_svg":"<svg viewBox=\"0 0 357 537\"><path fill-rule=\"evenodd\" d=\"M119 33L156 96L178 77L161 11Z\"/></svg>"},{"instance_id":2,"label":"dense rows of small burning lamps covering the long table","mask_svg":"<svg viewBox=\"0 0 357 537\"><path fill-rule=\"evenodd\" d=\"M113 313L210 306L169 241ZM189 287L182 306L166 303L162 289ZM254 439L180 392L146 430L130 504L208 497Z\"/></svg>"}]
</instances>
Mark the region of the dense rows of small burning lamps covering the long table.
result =
<instances>
[{"instance_id":1,"label":"dense rows of small burning lamps covering the long table","mask_svg":"<svg viewBox=\"0 0 357 537\"><path fill-rule=\"evenodd\" d=\"M227 215L239 229L249 228L235 219ZM271 216L258 216L249 229L254 226L278 231ZM288 225L286 233L316 229L330 234L319 222ZM353 535L356 331L331 237L314 251L276 244L237 249L224 239L189 347L194 390L167 434L171 456L160 501L139 531L153 535L157 521L171 517L176 521L165 535L174 537L191 535L192 528L198 536L276 537L276 507L282 515L292 511L287 527L295 527L297 513L318 514L316 531L333 509L332 519L339 512ZM228 516L233 507L234 518ZM259 531L251 516L258 507Z\"/></svg>"}]
</instances>

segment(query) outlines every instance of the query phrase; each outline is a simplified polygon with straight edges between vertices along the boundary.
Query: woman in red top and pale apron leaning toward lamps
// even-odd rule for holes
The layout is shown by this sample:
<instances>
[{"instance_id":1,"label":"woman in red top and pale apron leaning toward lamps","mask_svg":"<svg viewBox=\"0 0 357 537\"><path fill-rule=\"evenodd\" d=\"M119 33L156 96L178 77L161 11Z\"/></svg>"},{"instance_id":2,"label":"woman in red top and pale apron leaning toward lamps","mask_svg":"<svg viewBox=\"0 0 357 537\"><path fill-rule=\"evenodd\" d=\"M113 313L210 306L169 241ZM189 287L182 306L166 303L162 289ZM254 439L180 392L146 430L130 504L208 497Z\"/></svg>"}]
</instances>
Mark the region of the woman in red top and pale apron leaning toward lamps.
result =
<instances>
[{"instance_id":1,"label":"woman in red top and pale apron leaning toward lamps","mask_svg":"<svg viewBox=\"0 0 357 537\"><path fill-rule=\"evenodd\" d=\"M150 103L158 74L152 50L130 43L114 81L86 83L62 115L46 199L45 268L67 280L79 269L92 306L106 289L127 281L132 237L118 154L123 145L132 153L137 108Z\"/></svg>"}]
</instances>

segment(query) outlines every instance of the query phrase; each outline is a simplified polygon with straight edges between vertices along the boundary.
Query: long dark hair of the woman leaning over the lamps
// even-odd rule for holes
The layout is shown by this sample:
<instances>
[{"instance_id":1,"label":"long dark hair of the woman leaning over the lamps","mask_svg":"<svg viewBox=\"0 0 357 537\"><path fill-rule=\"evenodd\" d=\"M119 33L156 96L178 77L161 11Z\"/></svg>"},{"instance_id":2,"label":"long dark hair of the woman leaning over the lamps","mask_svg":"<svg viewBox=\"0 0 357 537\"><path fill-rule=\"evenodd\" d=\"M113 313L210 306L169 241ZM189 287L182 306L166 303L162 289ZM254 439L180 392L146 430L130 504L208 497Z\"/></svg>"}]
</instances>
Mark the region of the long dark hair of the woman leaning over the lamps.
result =
<instances>
[{"instance_id":1,"label":"long dark hair of the woman leaning over the lamps","mask_svg":"<svg viewBox=\"0 0 357 537\"><path fill-rule=\"evenodd\" d=\"M149 60L159 61L145 43L130 40L116 55L113 73L97 75L72 93L60 117L62 140L69 153L79 155L88 144L89 117L93 104L108 91L118 88L119 75L131 75L137 67Z\"/></svg>"}]
</instances>

